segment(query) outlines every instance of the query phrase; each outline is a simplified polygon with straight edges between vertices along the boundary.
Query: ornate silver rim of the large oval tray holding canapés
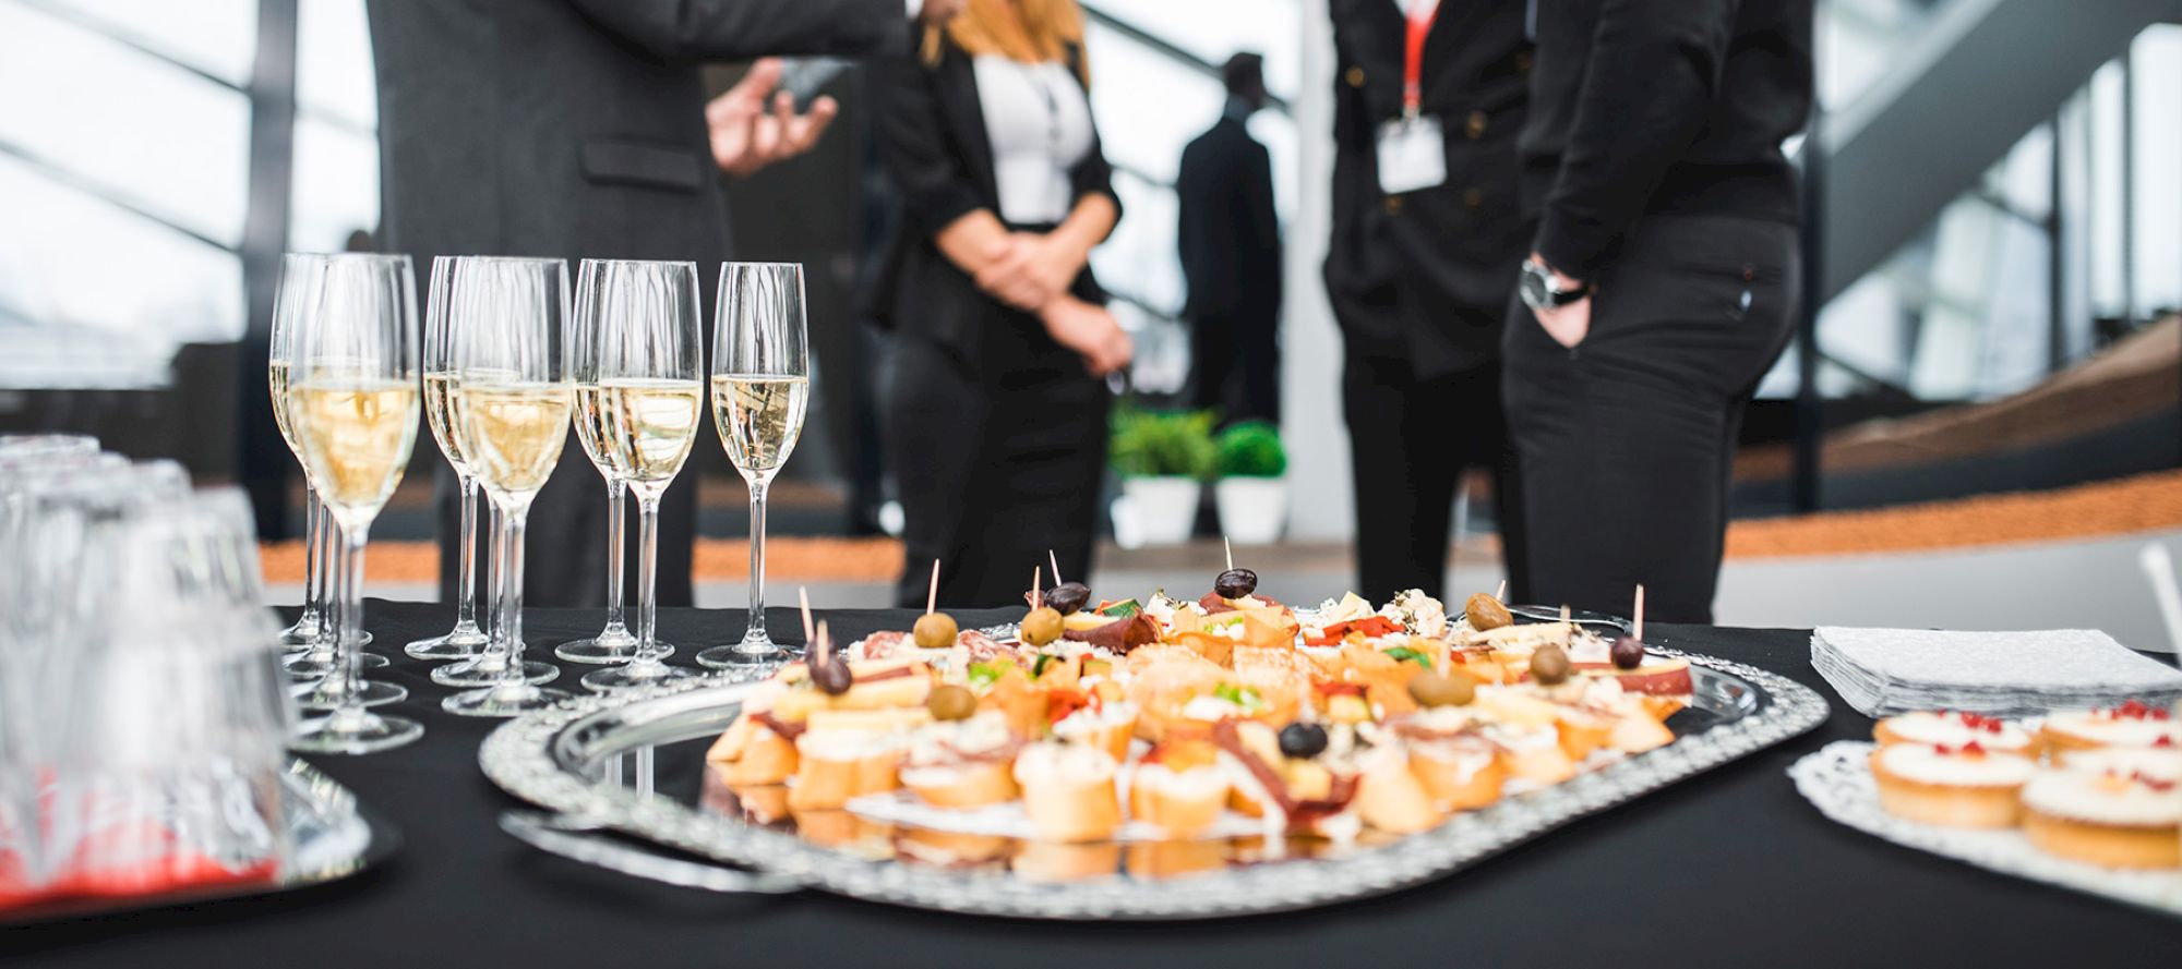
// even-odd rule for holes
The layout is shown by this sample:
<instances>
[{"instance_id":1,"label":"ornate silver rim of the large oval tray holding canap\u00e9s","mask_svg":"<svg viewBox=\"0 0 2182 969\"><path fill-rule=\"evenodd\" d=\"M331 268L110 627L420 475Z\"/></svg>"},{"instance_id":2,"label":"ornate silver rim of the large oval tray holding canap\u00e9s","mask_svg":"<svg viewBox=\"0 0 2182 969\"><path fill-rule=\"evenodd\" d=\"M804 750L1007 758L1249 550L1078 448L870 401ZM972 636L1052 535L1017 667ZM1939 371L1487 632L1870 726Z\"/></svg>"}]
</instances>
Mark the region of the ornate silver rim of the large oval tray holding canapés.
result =
<instances>
[{"instance_id":1,"label":"ornate silver rim of the large oval tray holding canap\u00e9s","mask_svg":"<svg viewBox=\"0 0 2182 969\"><path fill-rule=\"evenodd\" d=\"M484 775L506 792L556 812L511 816L504 827L572 858L674 884L727 890L816 888L871 901L1021 919L1213 919L1281 912L1381 895L1460 871L1702 770L1746 757L1818 727L1826 701L1783 677L1678 650L1691 661L1695 696L1676 714L1676 742L1612 762L1554 788L1512 794L1492 808L1379 847L1335 856L1231 866L1174 880L1126 875L1091 882L1028 882L1006 873L873 862L803 838L751 825L674 797L628 790L604 777L609 764L650 749L709 742L740 711L751 683L681 681L618 694L578 696L511 720L478 751ZM548 836L539 836L548 832ZM611 840L572 832L618 832L690 856L751 869L631 856ZM559 845L580 840L576 845ZM559 842L556 842L559 840ZM707 877L707 869L714 871Z\"/></svg>"}]
</instances>

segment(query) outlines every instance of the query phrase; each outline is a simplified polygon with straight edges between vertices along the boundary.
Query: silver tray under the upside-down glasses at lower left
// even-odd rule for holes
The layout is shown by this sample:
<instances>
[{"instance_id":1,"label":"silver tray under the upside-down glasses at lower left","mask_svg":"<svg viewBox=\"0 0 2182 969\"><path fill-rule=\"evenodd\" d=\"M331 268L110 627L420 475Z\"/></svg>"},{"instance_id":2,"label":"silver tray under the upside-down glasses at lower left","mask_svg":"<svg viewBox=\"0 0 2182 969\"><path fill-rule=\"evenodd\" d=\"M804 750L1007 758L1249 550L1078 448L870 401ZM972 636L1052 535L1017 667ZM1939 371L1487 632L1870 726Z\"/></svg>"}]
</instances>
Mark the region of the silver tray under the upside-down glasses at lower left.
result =
<instances>
[{"instance_id":1,"label":"silver tray under the upside-down glasses at lower left","mask_svg":"<svg viewBox=\"0 0 2182 969\"><path fill-rule=\"evenodd\" d=\"M39 901L0 912L0 925L292 893L377 866L401 847L401 836L393 825L369 812L340 781L301 759L288 759L288 770L281 773L281 812L288 825L288 862L266 882L113 899Z\"/></svg>"}]
</instances>

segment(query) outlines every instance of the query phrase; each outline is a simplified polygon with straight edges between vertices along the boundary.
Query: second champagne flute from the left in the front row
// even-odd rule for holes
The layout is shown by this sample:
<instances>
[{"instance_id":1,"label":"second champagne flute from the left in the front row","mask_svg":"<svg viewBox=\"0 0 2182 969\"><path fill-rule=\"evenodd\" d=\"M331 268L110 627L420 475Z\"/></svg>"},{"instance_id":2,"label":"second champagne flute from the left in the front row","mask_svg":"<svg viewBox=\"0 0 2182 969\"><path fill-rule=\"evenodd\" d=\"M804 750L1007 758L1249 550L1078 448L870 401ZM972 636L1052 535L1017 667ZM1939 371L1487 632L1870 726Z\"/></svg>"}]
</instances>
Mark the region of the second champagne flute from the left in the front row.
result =
<instances>
[{"instance_id":1,"label":"second champagne flute from the left in the front row","mask_svg":"<svg viewBox=\"0 0 2182 969\"><path fill-rule=\"evenodd\" d=\"M441 707L460 716L515 716L570 696L532 683L524 670L524 526L567 441L570 386L561 345L567 262L469 255L445 268L454 321L449 360L458 375L456 439L497 511L493 646L504 663L491 685L447 696Z\"/></svg>"}]
</instances>

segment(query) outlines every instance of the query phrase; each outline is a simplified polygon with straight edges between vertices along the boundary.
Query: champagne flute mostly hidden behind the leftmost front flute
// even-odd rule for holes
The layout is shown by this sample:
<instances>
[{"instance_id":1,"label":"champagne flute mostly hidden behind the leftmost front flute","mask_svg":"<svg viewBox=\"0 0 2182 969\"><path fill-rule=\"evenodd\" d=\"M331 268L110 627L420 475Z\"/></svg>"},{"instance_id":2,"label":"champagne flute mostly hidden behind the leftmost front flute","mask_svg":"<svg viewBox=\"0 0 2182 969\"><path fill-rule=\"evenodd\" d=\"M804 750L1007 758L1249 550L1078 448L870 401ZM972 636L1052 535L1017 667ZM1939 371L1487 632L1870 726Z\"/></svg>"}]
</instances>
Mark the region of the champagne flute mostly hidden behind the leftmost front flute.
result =
<instances>
[{"instance_id":1,"label":"champagne flute mostly hidden behind the leftmost front flute","mask_svg":"<svg viewBox=\"0 0 2182 969\"><path fill-rule=\"evenodd\" d=\"M316 308L319 292L325 284L325 253L286 253L279 260L279 284L273 290L273 334L266 354L266 386L273 393L273 423L279 428L281 441L288 443L288 452L295 454L295 463L303 465L303 450L295 443L295 428L288 426L288 351L290 340L297 330L303 327L308 314ZM334 519L327 515L325 504L319 502L319 489L310 484L310 474L303 474L303 615L295 620L292 626L281 631L281 646L292 653L286 659L288 674L297 679L325 679L334 672L338 655L334 650L334 622L325 618L327 600L327 570L325 563L334 559L334 546L340 541L334 535ZM371 646L371 633L364 633L360 646ZM386 666L386 657L375 653L364 653L364 670ZM375 703L386 703L384 696ZM327 705L316 705L316 709L332 709Z\"/></svg>"}]
</instances>

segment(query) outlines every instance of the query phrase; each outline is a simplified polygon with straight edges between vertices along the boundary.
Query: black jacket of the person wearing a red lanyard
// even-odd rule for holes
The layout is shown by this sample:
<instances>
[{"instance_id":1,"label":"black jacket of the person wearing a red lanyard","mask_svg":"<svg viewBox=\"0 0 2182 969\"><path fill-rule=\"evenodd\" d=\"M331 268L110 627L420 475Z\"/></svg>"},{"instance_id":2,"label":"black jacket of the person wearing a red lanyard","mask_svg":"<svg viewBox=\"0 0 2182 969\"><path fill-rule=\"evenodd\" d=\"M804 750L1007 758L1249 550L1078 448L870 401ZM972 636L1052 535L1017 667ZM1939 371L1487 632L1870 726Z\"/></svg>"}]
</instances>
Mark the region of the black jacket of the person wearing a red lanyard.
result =
<instances>
[{"instance_id":1,"label":"black jacket of the person wearing a red lanyard","mask_svg":"<svg viewBox=\"0 0 2182 969\"><path fill-rule=\"evenodd\" d=\"M1418 378L1499 356L1530 225L1514 137L1530 48L1523 0L1442 2L1425 37L1423 113L1447 133L1447 181L1379 192L1379 124L1401 116L1405 22L1392 0L1329 0L1333 238L1327 295L1351 356L1412 360Z\"/></svg>"}]
</instances>

